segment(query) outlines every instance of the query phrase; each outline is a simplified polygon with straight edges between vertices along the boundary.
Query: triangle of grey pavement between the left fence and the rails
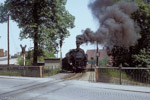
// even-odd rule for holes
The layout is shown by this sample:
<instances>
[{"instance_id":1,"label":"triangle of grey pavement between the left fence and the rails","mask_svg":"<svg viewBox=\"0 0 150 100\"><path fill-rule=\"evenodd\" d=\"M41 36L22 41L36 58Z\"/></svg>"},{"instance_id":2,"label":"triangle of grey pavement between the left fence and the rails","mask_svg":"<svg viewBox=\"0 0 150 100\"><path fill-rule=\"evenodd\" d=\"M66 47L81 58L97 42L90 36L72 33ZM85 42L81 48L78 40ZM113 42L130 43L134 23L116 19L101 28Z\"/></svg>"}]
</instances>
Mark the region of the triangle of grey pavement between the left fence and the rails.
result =
<instances>
[{"instance_id":1,"label":"triangle of grey pavement between the left fence and the rails","mask_svg":"<svg viewBox=\"0 0 150 100\"><path fill-rule=\"evenodd\" d=\"M0 95L53 80L52 78L0 76Z\"/></svg>"}]
</instances>

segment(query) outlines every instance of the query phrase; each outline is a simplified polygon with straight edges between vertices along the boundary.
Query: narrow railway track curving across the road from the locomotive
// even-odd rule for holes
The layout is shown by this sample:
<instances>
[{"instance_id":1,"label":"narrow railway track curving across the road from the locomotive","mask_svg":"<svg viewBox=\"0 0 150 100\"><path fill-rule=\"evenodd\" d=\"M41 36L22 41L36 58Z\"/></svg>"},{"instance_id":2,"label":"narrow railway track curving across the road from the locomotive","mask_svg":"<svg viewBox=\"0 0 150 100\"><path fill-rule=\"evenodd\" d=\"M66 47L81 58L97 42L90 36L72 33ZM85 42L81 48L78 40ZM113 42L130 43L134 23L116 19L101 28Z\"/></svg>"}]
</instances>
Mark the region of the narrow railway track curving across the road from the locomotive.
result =
<instances>
[{"instance_id":1,"label":"narrow railway track curving across the road from the locomotive","mask_svg":"<svg viewBox=\"0 0 150 100\"><path fill-rule=\"evenodd\" d=\"M60 83L60 82L68 81L68 80L73 80L73 79L79 79L82 75L83 75L83 73L72 73L70 75L66 75L64 78L62 78L60 80L54 80L54 81L51 80L51 81L42 82L39 84L23 87L23 88L20 88L17 90L5 92L5 93L0 94L0 100L7 100L7 98L9 98L9 97L15 97L21 93L28 92L30 90L39 89L41 87L45 87L48 85L53 85L56 83Z\"/></svg>"}]
</instances>

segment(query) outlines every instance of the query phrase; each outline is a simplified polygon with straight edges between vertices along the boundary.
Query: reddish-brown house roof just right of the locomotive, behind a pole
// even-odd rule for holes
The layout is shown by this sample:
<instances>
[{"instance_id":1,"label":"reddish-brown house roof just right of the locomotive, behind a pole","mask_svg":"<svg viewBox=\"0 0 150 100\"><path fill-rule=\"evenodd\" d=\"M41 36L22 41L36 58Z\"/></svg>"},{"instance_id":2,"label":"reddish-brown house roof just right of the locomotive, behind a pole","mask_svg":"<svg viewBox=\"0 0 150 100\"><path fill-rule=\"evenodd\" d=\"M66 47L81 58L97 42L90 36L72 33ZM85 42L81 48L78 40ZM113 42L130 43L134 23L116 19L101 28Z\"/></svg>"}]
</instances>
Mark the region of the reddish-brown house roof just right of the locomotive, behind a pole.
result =
<instances>
[{"instance_id":1,"label":"reddish-brown house roof just right of the locomotive, behind a pole","mask_svg":"<svg viewBox=\"0 0 150 100\"><path fill-rule=\"evenodd\" d=\"M86 51L86 54L88 55L88 60L90 60L91 57L93 57L93 58L95 59L95 58L96 58L96 52L97 52L96 49L95 49L95 50L87 50L87 51ZM103 59L105 59L106 57L108 57L107 52L106 52L105 49L99 49L98 52L99 52L99 54L100 54L99 60L103 60Z\"/></svg>"}]
</instances>

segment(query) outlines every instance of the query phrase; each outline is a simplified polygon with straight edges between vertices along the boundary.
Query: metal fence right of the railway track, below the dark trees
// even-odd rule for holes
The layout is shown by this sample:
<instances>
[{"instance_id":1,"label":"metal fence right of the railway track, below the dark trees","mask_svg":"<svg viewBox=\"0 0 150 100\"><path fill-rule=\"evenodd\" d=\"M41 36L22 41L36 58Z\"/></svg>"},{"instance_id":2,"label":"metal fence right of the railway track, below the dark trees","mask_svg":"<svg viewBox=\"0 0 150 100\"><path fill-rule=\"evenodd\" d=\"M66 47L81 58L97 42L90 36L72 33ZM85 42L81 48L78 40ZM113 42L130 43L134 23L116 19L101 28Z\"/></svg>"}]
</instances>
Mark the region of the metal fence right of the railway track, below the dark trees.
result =
<instances>
[{"instance_id":1,"label":"metal fence right of the railway track, below the dark trees","mask_svg":"<svg viewBox=\"0 0 150 100\"><path fill-rule=\"evenodd\" d=\"M120 85L150 86L150 68L97 67L96 81Z\"/></svg>"}]
</instances>

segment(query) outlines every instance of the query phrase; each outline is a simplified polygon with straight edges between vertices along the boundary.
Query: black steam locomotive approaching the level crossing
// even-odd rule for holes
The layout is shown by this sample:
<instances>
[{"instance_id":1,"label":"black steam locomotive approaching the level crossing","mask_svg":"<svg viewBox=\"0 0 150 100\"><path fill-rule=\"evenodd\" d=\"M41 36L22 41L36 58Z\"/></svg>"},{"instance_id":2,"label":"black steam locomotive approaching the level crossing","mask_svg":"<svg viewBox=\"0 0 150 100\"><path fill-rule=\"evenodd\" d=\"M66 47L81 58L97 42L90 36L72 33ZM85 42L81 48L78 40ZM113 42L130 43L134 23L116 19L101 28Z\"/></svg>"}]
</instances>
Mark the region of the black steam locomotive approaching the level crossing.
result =
<instances>
[{"instance_id":1,"label":"black steam locomotive approaching the level crossing","mask_svg":"<svg viewBox=\"0 0 150 100\"><path fill-rule=\"evenodd\" d=\"M62 69L73 72L83 72L87 65L87 54L77 47L70 50L62 60Z\"/></svg>"}]
</instances>

